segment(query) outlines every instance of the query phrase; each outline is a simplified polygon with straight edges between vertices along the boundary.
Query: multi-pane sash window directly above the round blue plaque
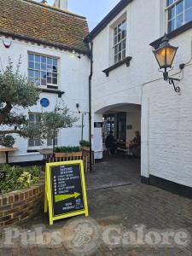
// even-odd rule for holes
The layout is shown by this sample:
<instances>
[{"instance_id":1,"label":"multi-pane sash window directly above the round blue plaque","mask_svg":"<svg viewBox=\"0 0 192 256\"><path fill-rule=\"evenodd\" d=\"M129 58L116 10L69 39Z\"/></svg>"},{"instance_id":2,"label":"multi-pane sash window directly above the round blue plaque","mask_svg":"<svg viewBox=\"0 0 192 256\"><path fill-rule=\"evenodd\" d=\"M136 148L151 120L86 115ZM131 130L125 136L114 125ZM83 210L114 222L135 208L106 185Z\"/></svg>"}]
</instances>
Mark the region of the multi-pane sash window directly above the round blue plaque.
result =
<instances>
[{"instance_id":1,"label":"multi-pane sash window directly above the round blue plaque","mask_svg":"<svg viewBox=\"0 0 192 256\"><path fill-rule=\"evenodd\" d=\"M58 59L30 53L28 55L28 78L47 88L58 88Z\"/></svg>"}]
</instances>

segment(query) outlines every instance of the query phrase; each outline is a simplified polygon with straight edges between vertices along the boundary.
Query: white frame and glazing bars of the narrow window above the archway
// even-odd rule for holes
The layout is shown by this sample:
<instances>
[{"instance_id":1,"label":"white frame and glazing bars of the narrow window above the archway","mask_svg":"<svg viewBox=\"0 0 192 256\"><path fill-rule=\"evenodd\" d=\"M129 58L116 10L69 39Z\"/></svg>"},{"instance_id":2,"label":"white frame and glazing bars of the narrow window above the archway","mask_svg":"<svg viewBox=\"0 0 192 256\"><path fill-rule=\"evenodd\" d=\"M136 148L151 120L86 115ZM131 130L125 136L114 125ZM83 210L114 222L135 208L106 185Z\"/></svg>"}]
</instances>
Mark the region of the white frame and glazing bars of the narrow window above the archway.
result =
<instances>
[{"instance_id":1,"label":"white frame and glazing bars of the narrow window above the archway","mask_svg":"<svg viewBox=\"0 0 192 256\"><path fill-rule=\"evenodd\" d=\"M122 38L122 32L118 32L118 27L122 26L122 24L125 23L125 38ZM115 30L117 32L115 32ZM118 35L120 34L121 39L118 41ZM117 42L115 43L115 38L117 38ZM125 42L125 48L122 48L123 43ZM119 45L121 45L121 49L119 50ZM117 53L115 53L115 48L117 47ZM127 20L126 17L121 18L119 22L113 26L113 64L118 63L119 61L123 61L126 57L126 47L127 47ZM123 57L123 52L125 52L125 55ZM121 55L119 59L119 54ZM117 60L115 61L115 56L117 56Z\"/></svg>"}]
</instances>

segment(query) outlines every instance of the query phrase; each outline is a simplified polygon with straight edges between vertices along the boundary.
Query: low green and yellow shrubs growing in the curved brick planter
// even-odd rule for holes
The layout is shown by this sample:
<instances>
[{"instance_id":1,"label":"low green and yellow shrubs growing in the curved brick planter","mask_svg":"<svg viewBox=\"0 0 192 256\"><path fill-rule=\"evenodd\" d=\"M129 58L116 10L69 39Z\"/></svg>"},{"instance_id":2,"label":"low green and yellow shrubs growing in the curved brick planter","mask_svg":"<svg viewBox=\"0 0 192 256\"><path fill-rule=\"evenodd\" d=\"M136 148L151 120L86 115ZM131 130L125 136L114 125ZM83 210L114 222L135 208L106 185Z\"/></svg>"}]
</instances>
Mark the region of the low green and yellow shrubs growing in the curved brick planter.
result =
<instances>
[{"instance_id":1,"label":"low green and yellow shrubs growing in the curved brick planter","mask_svg":"<svg viewBox=\"0 0 192 256\"><path fill-rule=\"evenodd\" d=\"M1 171L6 172L6 179L0 181L0 193L25 189L37 183L41 178L41 168L38 166L21 167L1 165Z\"/></svg>"}]
</instances>

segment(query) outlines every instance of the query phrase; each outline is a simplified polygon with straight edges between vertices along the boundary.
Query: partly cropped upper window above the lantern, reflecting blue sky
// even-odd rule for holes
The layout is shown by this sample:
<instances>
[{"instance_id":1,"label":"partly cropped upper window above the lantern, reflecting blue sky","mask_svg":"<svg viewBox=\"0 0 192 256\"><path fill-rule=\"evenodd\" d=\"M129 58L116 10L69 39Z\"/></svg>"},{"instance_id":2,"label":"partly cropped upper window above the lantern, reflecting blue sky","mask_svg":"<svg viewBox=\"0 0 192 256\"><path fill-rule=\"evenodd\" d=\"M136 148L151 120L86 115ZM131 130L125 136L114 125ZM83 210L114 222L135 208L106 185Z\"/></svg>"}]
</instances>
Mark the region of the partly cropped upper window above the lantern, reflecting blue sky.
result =
<instances>
[{"instance_id":1,"label":"partly cropped upper window above the lantern, reflecting blue sky","mask_svg":"<svg viewBox=\"0 0 192 256\"><path fill-rule=\"evenodd\" d=\"M167 32L192 20L192 0L167 0Z\"/></svg>"}]
</instances>

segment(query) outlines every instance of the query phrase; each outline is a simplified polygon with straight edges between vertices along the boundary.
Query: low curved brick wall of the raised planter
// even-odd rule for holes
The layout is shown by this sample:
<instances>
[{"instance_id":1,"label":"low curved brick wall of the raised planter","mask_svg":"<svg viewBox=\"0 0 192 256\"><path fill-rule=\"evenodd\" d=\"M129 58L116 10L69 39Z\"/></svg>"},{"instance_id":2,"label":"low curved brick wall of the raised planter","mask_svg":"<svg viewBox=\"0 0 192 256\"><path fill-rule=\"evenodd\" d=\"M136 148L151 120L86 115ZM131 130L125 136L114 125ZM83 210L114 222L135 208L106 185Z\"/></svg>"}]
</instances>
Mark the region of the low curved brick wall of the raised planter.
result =
<instances>
[{"instance_id":1,"label":"low curved brick wall of the raised planter","mask_svg":"<svg viewBox=\"0 0 192 256\"><path fill-rule=\"evenodd\" d=\"M44 206L44 179L28 189L0 195L0 228L31 218Z\"/></svg>"}]
</instances>

